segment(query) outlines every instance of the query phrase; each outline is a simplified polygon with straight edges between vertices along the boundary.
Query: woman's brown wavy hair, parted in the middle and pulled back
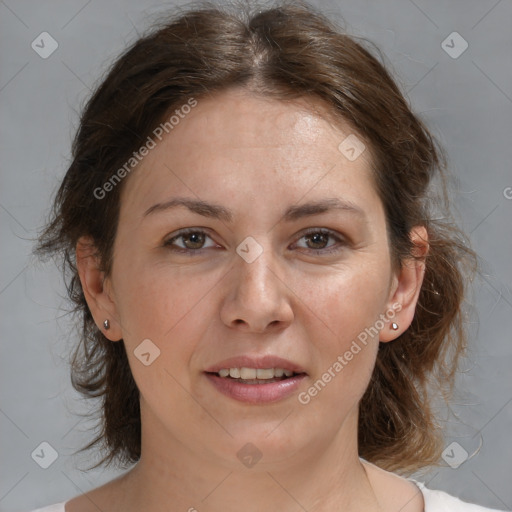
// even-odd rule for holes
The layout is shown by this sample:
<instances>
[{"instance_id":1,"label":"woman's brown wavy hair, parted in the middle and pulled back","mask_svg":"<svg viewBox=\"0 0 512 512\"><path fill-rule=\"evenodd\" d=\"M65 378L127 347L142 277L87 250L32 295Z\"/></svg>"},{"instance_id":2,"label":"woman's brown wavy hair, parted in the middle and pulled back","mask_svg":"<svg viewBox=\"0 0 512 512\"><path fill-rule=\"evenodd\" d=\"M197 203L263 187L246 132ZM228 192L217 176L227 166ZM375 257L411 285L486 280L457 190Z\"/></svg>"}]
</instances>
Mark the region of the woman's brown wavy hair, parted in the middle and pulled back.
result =
<instances>
[{"instance_id":1,"label":"woman's brown wavy hair, parted in the middle and pulled back","mask_svg":"<svg viewBox=\"0 0 512 512\"><path fill-rule=\"evenodd\" d=\"M426 227L429 251L414 320L396 340L380 344L359 406L358 443L361 457L389 471L434 464L442 435L433 403L437 391L445 397L453 390L467 339L465 271L476 268L451 215L435 213L441 203L448 208L443 148L413 114L374 45L347 35L306 2L254 7L202 2L171 13L115 61L83 109L71 164L35 250L60 257L73 311L82 321L70 361L73 387L102 399L101 431L80 451L105 451L94 467L137 462L141 451L139 390L124 343L109 341L95 325L75 259L78 239L90 236L109 275L120 194L129 177L110 187L107 199L94 191L173 109L191 97L200 101L242 87L281 101L321 99L329 115L365 141L398 265L415 257L411 228ZM441 194L434 194L434 183Z\"/></svg>"}]
</instances>

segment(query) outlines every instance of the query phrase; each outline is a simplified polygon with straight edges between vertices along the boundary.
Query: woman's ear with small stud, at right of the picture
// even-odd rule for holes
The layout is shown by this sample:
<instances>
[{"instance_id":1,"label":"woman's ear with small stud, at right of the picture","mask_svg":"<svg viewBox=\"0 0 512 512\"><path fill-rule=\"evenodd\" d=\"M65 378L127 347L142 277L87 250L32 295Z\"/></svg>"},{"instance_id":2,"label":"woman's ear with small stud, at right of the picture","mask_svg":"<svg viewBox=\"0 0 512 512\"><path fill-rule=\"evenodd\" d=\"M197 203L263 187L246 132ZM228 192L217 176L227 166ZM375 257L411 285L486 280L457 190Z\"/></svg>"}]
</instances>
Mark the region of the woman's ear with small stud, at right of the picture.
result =
<instances>
[{"instance_id":1,"label":"woman's ear with small stud, at right of the picture","mask_svg":"<svg viewBox=\"0 0 512 512\"><path fill-rule=\"evenodd\" d=\"M381 342L392 341L404 333L411 325L416 311L429 249L427 229L425 226L415 226L409 236L414 244L414 257L402 261L398 274L393 278L386 314L388 321L380 332ZM393 316L391 312L394 312ZM393 324L398 327L393 329Z\"/></svg>"}]
</instances>

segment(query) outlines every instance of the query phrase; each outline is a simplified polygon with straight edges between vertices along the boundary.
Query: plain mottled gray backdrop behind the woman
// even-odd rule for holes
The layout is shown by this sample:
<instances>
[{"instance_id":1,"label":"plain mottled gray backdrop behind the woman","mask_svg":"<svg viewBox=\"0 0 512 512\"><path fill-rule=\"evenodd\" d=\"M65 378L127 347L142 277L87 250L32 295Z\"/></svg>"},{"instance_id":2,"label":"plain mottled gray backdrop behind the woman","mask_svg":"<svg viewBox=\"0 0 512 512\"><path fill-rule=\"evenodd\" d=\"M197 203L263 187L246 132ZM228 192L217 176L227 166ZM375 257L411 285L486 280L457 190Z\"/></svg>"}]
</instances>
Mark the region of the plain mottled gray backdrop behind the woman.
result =
<instances>
[{"instance_id":1,"label":"plain mottled gray backdrop behind the woman","mask_svg":"<svg viewBox=\"0 0 512 512\"><path fill-rule=\"evenodd\" d=\"M179 2L185 5L186 2ZM1 483L0 510L63 501L121 471L78 468L72 452L91 438L84 404L69 381L76 338L64 315L65 289L52 264L30 258L68 163L77 112L109 63L171 4L155 1L0 1L1 117ZM172 3L176 5L176 3ZM510 0L319 1L348 31L377 43L397 79L447 148L459 220L483 274L469 299L471 351L445 426L458 469L443 461L418 479L489 507L512 507L512 3ZM43 31L58 49L42 59L31 43ZM469 47L442 47L457 31ZM460 41L452 44L461 48ZM57 460L31 457L46 441Z\"/></svg>"}]
</instances>

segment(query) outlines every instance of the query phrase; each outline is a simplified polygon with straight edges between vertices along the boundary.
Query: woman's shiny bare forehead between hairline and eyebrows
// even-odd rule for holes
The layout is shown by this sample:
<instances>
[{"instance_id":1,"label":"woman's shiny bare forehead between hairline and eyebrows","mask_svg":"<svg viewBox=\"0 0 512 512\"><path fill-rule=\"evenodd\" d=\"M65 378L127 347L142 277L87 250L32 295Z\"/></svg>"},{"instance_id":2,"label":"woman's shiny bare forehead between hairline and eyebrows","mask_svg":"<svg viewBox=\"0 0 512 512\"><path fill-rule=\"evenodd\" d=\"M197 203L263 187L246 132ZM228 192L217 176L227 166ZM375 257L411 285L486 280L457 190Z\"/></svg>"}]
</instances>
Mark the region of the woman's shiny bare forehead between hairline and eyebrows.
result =
<instances>
[{"instance_id":1,"label":"woman's shiny bare forehead between hairline and eyebrows","mask_svg":"<svg viewBox=\"0 0 512 512\"><path fill-rule=\"evenodd\" d=\"M242 193L255 199L256 191L260 200L275 199L279 190L298 201L308 190L333 189L352 202L368 200L369 148L355 159L344 152L354 137L356 151L365 148L316 98L282 101L239 89L199 98L129 177L122 202L145 210L177 192L234 201Z\"/></svg>"}]
</instances>

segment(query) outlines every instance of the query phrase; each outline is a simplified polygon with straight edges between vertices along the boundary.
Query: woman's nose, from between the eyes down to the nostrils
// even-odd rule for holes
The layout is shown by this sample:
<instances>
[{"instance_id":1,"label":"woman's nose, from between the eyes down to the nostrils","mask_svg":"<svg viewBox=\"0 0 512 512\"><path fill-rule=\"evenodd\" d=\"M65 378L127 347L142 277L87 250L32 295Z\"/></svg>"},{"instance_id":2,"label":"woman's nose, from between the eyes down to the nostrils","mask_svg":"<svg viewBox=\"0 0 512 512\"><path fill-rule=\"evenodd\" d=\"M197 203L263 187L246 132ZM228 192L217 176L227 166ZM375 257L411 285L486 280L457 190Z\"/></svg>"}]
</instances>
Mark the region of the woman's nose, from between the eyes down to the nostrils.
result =
<instances>
[{"instance_id":1,"label":"woman's nose, from between the eyes down to the nostrils","mask_svg":"<svg viewBox=\"0 0 512 512\"><path fill-rule=\"evenodd\" d=\"M237 258L223 284L226 294L221 319L225 325L254 333L282 330L290 325L293 292L279 276L270 249L265 249L251 263L238 255Z\"/></svg>"}]
</instances>

